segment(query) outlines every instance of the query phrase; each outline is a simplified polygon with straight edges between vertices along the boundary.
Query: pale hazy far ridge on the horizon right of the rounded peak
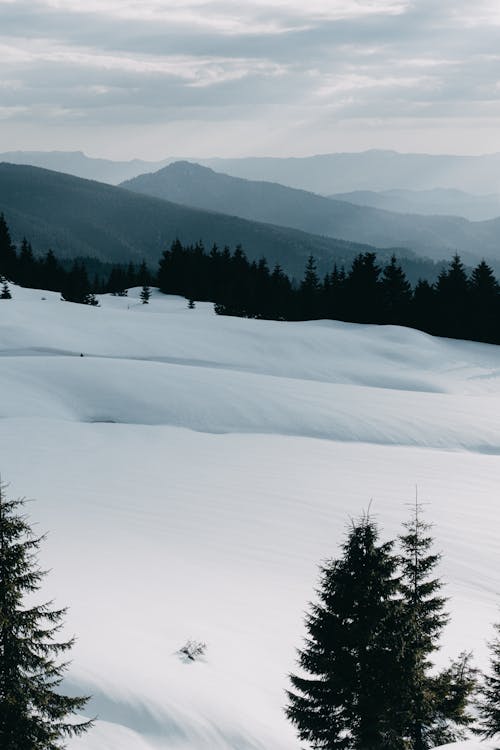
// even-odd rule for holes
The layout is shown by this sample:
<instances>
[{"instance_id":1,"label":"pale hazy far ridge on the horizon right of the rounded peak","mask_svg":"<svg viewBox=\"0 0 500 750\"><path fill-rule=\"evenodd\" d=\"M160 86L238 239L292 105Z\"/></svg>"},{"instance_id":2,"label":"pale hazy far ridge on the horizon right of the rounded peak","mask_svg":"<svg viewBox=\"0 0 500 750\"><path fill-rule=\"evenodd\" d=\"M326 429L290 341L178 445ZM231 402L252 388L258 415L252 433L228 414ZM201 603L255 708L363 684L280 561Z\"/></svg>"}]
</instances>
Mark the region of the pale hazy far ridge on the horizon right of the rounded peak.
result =
<instances>
[{"instance_id":1,"label":"pale hazy far ridge on the horizon right of the rounded peak","mask_svg":"<svg viewBox=\"0 0 500 750\"><path fill-rule=\"evenodd\" d=\"M323 195L395 188L455 188L479 194L500 193L500 154L454 156L373 150L303 158L199 161L234 177L279 182Z\"/></svg>"}]
</instances>

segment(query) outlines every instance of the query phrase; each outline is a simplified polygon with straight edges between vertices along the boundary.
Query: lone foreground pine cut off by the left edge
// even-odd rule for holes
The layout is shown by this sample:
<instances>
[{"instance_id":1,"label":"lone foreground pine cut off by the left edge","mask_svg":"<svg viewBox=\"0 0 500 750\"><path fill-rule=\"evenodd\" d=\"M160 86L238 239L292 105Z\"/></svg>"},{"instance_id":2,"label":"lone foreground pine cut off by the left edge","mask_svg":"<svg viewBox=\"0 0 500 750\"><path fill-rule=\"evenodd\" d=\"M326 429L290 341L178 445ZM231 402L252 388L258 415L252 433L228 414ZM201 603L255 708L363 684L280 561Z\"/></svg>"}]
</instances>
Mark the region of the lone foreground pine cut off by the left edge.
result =
<instances>
[{"instance_id":1,"label":"lone foreground pine cut off by the left edge","mask_svg":"<svg viewBox=\"0 0 500 750\"><path fill-rule=\"evenodd\" d=\"M59 750L92 722L70 719L88 698L58 690L67 667L58 660L73 639L57 641L66 610L32 604L45 575L36 559L43 537L33 535L22 507L0 484L0 747Z\"/></svg>"}]
</instances>

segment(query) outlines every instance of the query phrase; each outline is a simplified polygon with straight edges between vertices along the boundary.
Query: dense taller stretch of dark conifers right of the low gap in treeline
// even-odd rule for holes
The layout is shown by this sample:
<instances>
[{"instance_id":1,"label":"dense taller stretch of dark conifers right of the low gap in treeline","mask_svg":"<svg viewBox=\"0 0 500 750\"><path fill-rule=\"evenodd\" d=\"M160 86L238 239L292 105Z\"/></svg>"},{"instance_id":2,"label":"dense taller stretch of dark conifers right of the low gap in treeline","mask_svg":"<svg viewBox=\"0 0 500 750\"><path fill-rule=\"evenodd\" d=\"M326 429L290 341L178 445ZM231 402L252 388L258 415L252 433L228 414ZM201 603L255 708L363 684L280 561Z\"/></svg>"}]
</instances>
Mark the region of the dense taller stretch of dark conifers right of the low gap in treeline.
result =
<instances>
[{"instance_id":1,"label":"dense taller stretch of dark conifers right of the low gap in treeline","mask_svg":"<svg viewBox=\"0 0 500 750\"><path fill-rule=\"evenodd\" d=\"M331 319L410 326L438 336L500 343L500 285L481 261L470 274L458 255L435 284L412 288L395 256L384 267L374 252L360 253L351 267L333 266L322 279L312 256L294 283L280 265L249 261L213 246L175 240L160 260L157 284L166 294L215 303L220 315L274 320Z\"/></svg>"}]
</instances>

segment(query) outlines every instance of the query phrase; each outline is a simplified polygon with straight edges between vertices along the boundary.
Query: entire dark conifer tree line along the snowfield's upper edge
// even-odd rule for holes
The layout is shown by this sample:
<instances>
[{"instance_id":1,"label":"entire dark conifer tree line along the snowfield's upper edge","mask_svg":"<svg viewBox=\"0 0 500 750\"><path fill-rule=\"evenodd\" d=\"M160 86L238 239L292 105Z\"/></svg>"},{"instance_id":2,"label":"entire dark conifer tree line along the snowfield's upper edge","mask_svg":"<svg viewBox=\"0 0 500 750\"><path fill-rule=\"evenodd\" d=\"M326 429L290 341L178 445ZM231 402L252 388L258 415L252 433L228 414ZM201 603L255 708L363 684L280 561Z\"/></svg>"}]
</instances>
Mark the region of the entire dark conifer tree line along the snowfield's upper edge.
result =
<instances>
[{"instance_id":1,"label":"entire dark conifer tree line along the snowfield's upper edge","mask_svg":"<svg viewBox=\"0 0 500 750\"><path fill-rule=\"evenodd\" d=\"M90 262L100 271L92 281ZM84 304L97 304L96 294L125 295L133 286L142 287L147 302L149 287L155 285L165 294L213 302L220 315L393 324L500 343L500 285L494 272L485 261L468 272L458 255L434 284L421 279L412 287L395 256L382 266L374 252L360 253L348 270L334 265L323 278L311 256L297 282L279 264L270 269L265 258L249 261L241 246L231 251L213 245L207 251L202 242L183 245L176 239L153 273L145 262L62 262L51 250L37 257L26 240L17 251L0 215L0 276L21 286L59 291L63 299Z\"/></svg>"}]
</instances>

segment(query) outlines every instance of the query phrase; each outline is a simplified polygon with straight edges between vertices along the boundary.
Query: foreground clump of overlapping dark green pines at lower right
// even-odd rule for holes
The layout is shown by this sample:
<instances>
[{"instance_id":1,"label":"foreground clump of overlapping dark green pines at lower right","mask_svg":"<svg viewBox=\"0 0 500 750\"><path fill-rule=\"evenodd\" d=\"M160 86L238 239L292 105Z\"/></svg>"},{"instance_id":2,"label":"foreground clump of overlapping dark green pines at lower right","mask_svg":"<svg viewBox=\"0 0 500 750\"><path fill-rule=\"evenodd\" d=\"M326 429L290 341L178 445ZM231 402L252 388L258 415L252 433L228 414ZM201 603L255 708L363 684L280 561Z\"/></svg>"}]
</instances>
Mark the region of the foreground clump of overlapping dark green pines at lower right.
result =
<instances>
[{"instance_id":1,"label":"foreground clump of overlapping dark green pines at lower right","mask_svg":"<svg viewBox=\"0 0 500 750\"><path fill-rule=\"evenodd\" d=\"M321 569L306 617L288 718L315 750L428 750L463 736L476 683L470 655L435 673L431 655L447 622L440 556L416 504L400 537L381 544L368 518L342 557ZM499 645L500 649L500 645Z\"/></svg>"}]
</instances>

